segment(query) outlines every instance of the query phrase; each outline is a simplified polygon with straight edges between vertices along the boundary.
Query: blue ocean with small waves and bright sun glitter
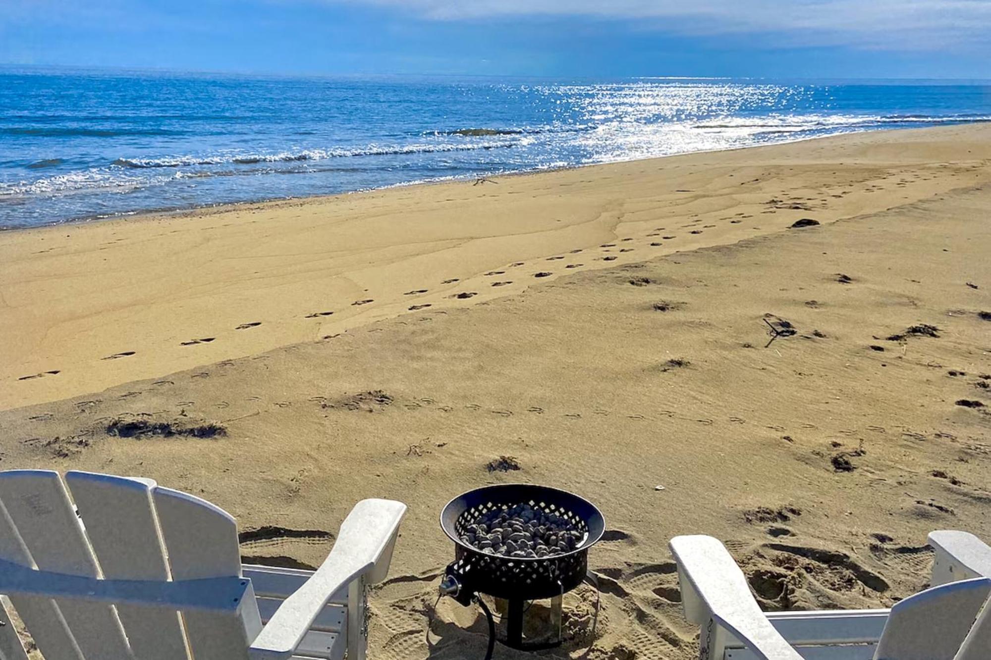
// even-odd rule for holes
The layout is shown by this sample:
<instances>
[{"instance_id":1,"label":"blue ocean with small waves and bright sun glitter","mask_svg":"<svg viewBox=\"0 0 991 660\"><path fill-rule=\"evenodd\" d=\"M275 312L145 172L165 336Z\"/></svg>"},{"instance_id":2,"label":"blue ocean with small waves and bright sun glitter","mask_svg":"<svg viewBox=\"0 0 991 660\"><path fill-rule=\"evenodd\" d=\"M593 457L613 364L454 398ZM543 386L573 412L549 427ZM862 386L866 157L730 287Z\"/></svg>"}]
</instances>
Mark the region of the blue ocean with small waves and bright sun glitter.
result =
<instances>
[{"instance_id":1,"label":"blue ocean with small waves and bright sun glitter","mask_svg":"<svg viewBox=\"0 0 991 660\"><path fill-rule=\"evenodd\" d=\"M932 81L0 68L0 229L991 120Z\"/></svg>"}]
</instances>

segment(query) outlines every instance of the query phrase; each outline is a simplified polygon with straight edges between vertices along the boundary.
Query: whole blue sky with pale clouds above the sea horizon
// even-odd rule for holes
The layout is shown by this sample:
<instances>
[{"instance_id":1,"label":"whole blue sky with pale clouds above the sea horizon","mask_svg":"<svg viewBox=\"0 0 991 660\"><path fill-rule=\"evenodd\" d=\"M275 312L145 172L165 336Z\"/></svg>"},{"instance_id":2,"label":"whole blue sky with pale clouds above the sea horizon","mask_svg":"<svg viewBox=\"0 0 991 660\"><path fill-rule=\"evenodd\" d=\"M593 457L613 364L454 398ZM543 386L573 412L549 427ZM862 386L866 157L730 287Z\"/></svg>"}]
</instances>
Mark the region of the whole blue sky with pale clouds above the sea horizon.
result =
<instances>
[{"instance_id":1,"label":"whole blue sky with pale clouds above the sea horizon","mask_svg":"<svg viewBox=\"0 0 991 660\"><path fill-rule=\"evenodd\" d=\"M0 0L0 63L991 78L991 0Z\"/></svg>"}]
</instances>

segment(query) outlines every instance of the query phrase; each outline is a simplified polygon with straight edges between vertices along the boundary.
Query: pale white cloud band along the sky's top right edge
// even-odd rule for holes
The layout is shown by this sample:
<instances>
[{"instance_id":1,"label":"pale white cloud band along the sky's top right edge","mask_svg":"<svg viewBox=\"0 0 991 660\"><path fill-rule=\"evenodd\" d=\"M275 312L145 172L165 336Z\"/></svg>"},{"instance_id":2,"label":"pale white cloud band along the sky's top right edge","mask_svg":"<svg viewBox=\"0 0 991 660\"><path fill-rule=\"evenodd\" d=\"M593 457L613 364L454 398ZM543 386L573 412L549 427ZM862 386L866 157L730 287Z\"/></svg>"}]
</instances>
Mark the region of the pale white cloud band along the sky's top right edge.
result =
<instances>
[{"instance_id":1,"label":"pale white cloud band along the sky's top right edge","mask_svg":"<svg viewBox=\"0 0 991 660\"><path fill-rule=\"evenodd\" d=\"M585 16L687 35L775 33L811 45L916 50L991 43L991 0L330 0L342 1L439 21Z\"/></svg>"}]
</instances>

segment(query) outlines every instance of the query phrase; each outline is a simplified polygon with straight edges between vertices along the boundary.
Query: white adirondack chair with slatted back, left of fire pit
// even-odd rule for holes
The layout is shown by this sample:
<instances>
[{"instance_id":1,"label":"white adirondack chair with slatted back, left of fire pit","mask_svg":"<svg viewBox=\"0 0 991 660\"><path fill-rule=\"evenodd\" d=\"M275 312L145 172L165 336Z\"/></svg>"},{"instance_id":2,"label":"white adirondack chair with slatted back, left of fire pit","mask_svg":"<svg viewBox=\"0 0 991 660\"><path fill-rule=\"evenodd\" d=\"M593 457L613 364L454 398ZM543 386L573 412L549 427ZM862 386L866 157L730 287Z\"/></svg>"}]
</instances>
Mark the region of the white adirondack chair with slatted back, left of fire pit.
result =
<instances>
[{"instance_id":1,"label":"white adirondack chair with slatted back, left of fire pit","mask_svg":"<svg viewBox=\"0 0 991 660\"><path fill-rule=\"evenodd\" d=\"M385 579L405 509L359 502L315 572L242 566L234 518L199 497L0 472L0 659L27 658L13 604L46 660L364 660L366 586Z\"/></svg>"}]
</instances>

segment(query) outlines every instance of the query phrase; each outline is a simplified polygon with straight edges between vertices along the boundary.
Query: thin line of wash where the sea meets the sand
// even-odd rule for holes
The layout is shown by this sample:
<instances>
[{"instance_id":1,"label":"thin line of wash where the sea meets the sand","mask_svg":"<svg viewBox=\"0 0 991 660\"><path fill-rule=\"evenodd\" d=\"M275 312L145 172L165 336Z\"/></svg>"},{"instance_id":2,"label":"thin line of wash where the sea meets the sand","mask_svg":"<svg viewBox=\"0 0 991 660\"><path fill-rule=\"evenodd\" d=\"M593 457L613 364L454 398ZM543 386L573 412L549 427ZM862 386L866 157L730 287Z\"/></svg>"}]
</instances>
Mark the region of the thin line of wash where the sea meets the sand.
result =
<instances>
[{"instance_id":1,"label":"thin line of wash where the sea meets the sand","mask_svg":"<svg viewBox=\"0 0 991 660\"><path fill-rule=\"evenodd\" d=\"M848 131L841 131L841 132L838 132L838 133L830 133L830 134L827 134L827 135L817 135L817 136L810 136L810 137L805 137L805 138L797 138L795 140L781 140L781 141L770 142L770 143L766 143L766 144L754 144L754 145L746 145L744 147L731 147L731 148L726 148L726 149L698 150L698 151L692 151L692 152L682 152L682 153L678 153L678 154L669 154L669 155L666 155L666 156L654 156L654 157L639 158L639 159L634 158L634 159L629 159L629 160L607 161L607 162L604 162L604 163L588 163L588 164L579 164L579 165L563 165L563 166L560 166L560 167L549 166L549 167L545 167L545 168L537 167L537 168L531 168L531 169L514 169L514 170L506 170L506 171L495 172L495 173L493 173L493 172L482 172L482 173L478 173L478 174L466 174L464 176L438 177L438 178L432 178L432 179L414 179L414 180L410 180L410 181L401 181L401 182L398 182L398 183L391 183L391 184L388 184L388 185L382 185L382 186L376 186L376 187L368 187L368 188L357 188L357 189L354 189L354 190L345 190L345 191L342 191L342 192L335 192L335 193L329 193L329 194L303 195L303 196L299 196L299 197L272 197L272 198L262 198L262 199L245 200L245 201L237 201L237 202L220 202L220 203L217 203L217 204L205 204L205 205L200 205L200 206L180 206L180 207L175 207L175 208L167 208L166 207L166 208L140 209L140 210L135 210L135 211L126 211L126 212L121 212L121 213L115 213L115 214L112 214L112 215L105 215L105 216L100 216L100 215L82 216L82 217L78 217L78 218L70 218L70 219L67 219L67 220L55 221L53 223L49 223L49 224L45 224L45 225L28 226L28 227L0 228L0 233L4 233L4 232L18 232L18 231L30 231L30 230L35 230L35 229L44 229L46 227L65 227L65 226L72 226L72 225L79 225L79 224L86 224L86 225L88 225L88 224L97 223L97 222L111 222L111 221L126 222L126 221L129 221L129 220L139 220L139 219L148 218L148 217L154 217L154 218L160 218L160 217L180 217L181 218L181 217L186 217L186 216L189 216L189 215L199 215L199 214L207 215L207 214L209 214L212 211L216 211L216 212L234 211L234 210L237 210L239 207L244 207L244 206L256 206L256 205L259 205L259 204L269 205L269 204L277 204L279 202L290 203L290 202L308 201L308 200L324 200L324 199L328 199L328 198L341 197L341 196L346 196L346 195L363 194L363 193L377 192L377 191L381 191L381 190L391 190L393 188L405 188L405 187L410 187L410 186L421 186L421 185L424 185L424 186L426 186L426 185L443 185L445 183L459 183L459 182L471 181L471 180L477 179L477 178L526 176L526 175L529 175L529 174L541 174L541 173L548 173L548 172L566 171L566 170L571 170L571 169L583 169L585 167L596 167L596 166L601 166L601 165L620 165L620 164L624 164L624 163L638 163L638 162L641 162L641 161L642 162L648 162L649 163L649 162L652 162L652 161L660 161L660 160L663 160L663 159L677 158L677 157L682 157L682 156L693 156L693 155L700 155L700 154L720 154L720 153L741 152L741 151L750 150L750 149L762 149L762 148L768 148L768 147L778 147L778 146L782 146L782 145L792 145L792 144L797 144L797 143L813 142L813 141L816 141L816 140L826 140L826 139L829 139L829 138L841 138L843 136L848 136L848 135L890 133L890 132L900 132L900 131L927 131L927 130L933 130L933 129L954 128L954 127L960 127L960 126L981 126L981 125L986 125L986 124L991 124L991 120L982 119L982 120L966 120L966 121L963 121L963 120L959 120L959 121L946 121L946 122L937 122L934 126L926 126L926 127L871 128L871 129L863 129L863 130L850 129Z\"/></svg>"}]
</instances>

